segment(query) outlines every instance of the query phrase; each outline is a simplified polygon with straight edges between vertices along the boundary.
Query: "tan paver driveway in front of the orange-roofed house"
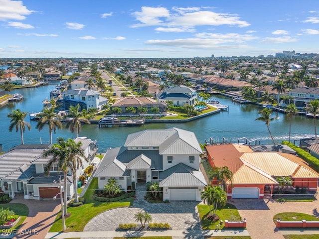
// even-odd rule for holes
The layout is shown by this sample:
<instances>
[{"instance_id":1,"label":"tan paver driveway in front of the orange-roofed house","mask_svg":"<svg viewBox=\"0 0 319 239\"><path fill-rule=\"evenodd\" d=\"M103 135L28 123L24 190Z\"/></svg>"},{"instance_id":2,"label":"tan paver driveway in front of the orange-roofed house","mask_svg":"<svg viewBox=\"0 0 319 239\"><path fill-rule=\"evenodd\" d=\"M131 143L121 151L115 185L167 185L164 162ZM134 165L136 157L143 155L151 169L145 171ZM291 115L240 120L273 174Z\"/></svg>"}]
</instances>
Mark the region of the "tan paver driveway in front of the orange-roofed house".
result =
<instances>
[{"instance_id":1,"label":"tan paver driveway in front of the orange-roofed house","mask_svg":"<svg viewBox=\"0 0 319 239\"><path fill-rule=\"evenodd\" d=\"M276 214L297 212L318 216L317 209L319 208L317 200L309 203L280 203L262 199L231 199L228 202L237 207L242 218L246 218L247 230L252 239L284 239L273 222Z\"/></svg>"}]
</instances>

